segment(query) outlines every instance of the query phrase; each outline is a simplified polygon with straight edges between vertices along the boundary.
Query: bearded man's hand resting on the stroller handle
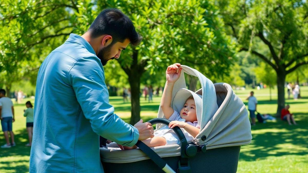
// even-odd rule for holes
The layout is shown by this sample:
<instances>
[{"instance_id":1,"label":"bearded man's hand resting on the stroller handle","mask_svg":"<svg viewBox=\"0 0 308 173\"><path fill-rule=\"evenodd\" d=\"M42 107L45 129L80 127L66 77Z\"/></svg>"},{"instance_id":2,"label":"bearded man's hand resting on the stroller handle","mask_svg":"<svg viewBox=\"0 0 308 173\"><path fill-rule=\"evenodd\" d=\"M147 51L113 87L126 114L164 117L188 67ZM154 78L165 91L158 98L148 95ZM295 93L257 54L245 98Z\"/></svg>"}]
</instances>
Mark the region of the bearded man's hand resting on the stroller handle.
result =
<instances>
[{"instance_id":1,"label":"bearded man's hand resting on the stroller handle","mask_svg":"<svg viewBox=\"0 0 308 173\"><path fill-rule=\"evenodd\" d=\"M143 120L140 119L139 122L137 122L134 127L136 127L139 131L139 139L140 141L148 139L148 138L153 138L154 135L154 128L152 127L151 123L142 123Z\"/></svg>"}]
</instances>

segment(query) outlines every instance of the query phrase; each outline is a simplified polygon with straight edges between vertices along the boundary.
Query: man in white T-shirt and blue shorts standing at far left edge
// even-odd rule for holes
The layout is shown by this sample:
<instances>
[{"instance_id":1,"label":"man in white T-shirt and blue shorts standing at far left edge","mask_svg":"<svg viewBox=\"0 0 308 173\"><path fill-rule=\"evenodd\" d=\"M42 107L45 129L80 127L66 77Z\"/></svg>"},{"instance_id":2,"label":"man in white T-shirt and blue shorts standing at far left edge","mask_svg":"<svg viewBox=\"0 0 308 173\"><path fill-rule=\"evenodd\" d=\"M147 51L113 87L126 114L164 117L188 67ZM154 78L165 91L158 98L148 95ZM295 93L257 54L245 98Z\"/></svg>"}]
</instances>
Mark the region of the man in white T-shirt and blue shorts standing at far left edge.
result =
<instances>
[{"instance_id":1,"label":"man in white T-shirt and blue shorts standing at far left edge","mask_svg":"<svg viewBox=\"0 0 308 173\"><path fill-rule=\"evenodd\" d=\"M6 97L5 94L5 90L0 89L0 119L2 131L6 140L6 144L2 145L1 148L10 148L12 146L16 146L14 141L14 133L12 130L12 123L15 121L14 106L12 100ZM10 132L12 143L10 143L8 132Z\"/></svg>"}]
</instances>

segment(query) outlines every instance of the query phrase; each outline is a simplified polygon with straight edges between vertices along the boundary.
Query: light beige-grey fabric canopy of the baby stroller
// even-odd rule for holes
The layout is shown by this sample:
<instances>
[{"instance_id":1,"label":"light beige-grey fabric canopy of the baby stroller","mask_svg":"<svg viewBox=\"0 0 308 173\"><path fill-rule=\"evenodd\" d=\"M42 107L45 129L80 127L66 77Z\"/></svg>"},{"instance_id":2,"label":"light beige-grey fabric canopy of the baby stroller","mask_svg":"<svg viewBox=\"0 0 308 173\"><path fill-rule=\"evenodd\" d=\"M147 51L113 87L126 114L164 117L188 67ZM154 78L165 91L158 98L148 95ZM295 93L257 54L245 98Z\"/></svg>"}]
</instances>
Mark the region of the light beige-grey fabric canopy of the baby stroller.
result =
<instances>
[{"instance_id":1,"label":"light beige-grey fabric canopy of the baby stroller","mask_svg":"<svg viewBox=\"0 0 308 173\"><path fill-rule=\"evenodd\" d=\"M196 95L192 94L196 101L197 119L200 125L200 133L193 142L206 145L208 149L249 144L252 136L248 112L242 100L233 93L231 86L227 83L213 84L198 70L184 65L181 67L183 68L181 76L172 90L171 107L174 110L180 111L187 99L187 96L183 99L177 96L179 93L184 94L183 90L187 90L184 73L198 77L201 83L201 89L196 91L196 94L202 95L202 104L198 104ZM161 108L157 117L164 118ZM163 126L157 124L156 128L160 129Z\"/></svg>"}]
</instances>

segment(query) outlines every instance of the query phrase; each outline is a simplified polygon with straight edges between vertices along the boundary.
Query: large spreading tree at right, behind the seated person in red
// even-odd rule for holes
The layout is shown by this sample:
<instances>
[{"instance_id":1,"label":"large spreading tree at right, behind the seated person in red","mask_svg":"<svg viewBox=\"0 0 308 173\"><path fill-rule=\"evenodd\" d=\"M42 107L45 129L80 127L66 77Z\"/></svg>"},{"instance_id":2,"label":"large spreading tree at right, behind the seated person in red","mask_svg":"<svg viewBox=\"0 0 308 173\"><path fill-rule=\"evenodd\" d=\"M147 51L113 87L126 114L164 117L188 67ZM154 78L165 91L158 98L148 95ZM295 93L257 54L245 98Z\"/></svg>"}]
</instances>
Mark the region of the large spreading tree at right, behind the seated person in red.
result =
<instances>
[{"instance_id":1,"label":"large spreading tree at right, behind the seated person in red","mask_svg":"<svg viewBox=\"0 0 308 173\"><path fill-rule=\"evenodd\" d=\"M285 79L308 64L308 6L302 0L216 1L229 34L239 51L247 51L269 64L277 74L278 108L285 106ZM266 53L256 42L263 42Z\"/></svg>"}]
</instances>

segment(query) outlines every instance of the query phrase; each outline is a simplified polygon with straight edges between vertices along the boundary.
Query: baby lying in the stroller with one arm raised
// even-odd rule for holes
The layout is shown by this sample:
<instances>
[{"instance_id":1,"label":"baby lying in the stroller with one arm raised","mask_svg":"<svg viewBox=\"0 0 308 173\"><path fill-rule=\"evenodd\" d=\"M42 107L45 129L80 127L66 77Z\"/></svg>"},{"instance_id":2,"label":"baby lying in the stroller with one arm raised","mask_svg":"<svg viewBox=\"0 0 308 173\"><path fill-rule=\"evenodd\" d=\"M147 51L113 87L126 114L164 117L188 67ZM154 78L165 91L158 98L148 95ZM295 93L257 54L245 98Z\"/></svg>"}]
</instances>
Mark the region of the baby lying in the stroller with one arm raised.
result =
<instances>
[{"instance_id":1,"label":"baby lying in the stroller with one arm raised","mask_svg":"<svg viewBox=\"0 0 308 173\"><path fill-rule=\"evenodd\" d=\"M183 132L187 141L192 141L200 132L200 126L197 121L196 104L193 96L190 96L184 103L183 108L178 113L170 106L172 89L174 83L179 79L182 68L179 63L168 66L166 70L167 84L164 88L160 107L166 119L171 122L168 126L162 127L154 133L153 138L145 139L144 142L149 147L157 147L163 145L179 144L177 135L171 129L178 126ZM200 96L200 95L198 95ZM121 146L120 146L121 147ZM124 146L123 146L124 147ZM134 147L124 147L124 149L133 149Z\"/></svg>"}]
</instances>

